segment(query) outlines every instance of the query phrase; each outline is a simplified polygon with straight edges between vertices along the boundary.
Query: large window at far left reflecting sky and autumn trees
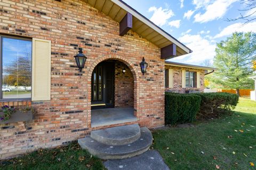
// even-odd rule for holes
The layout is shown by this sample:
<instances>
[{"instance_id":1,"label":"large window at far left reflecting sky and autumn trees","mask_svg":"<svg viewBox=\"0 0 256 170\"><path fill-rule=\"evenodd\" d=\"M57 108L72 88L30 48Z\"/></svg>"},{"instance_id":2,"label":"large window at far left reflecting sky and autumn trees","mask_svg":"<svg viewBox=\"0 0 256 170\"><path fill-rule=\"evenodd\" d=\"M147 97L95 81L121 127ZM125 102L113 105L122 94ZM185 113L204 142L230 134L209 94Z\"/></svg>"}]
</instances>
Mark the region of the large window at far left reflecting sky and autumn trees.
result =
<instances>
[{"instance_id":1,"label":"large window at far left reflecting sky and autumn trees","mask_svg":"<svg viewBox=\"0 0 256 170\"><path fill-rule=\"evenodd\" d=\"M0 35L1 99L31 98L32 42Z\"/></svg>"}]
</instances>

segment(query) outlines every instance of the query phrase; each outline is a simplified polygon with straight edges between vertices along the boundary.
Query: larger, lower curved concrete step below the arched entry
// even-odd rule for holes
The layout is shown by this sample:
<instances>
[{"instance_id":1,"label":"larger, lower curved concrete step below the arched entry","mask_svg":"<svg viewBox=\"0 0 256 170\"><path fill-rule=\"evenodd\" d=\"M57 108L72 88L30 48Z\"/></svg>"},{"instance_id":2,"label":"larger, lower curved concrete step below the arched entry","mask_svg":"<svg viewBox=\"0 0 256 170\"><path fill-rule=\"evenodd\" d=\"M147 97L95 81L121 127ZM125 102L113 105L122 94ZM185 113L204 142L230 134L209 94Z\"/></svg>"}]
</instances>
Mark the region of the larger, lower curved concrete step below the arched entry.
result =
<instances>
[{"instance_id":1,"label":"larger, lower curved concrete step below the arched entry","mask_svg":"<svg viewBox=\"0 0 256 170\"><path fill-rule=\"evenodd\" d=\"M141 136L138 140L128 145L111 146L93 140L91 137L78 139L79 145L87 149L92 155L101 159L123 159L140 155L152 145L153 137L146 128L141 128Z\"/></svg>"}]
</instances>

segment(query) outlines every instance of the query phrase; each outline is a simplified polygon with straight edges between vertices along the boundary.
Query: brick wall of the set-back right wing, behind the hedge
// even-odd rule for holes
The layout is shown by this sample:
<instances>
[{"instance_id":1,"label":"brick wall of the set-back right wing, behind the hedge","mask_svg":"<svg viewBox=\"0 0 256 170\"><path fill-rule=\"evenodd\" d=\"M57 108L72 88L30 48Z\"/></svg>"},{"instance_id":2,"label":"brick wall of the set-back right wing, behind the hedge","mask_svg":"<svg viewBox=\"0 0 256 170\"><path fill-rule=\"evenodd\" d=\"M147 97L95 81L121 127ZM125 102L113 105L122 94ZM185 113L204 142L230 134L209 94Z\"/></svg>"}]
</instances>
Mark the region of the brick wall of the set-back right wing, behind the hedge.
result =
<instances>
[{"instance_id":1,"label":"brick wall of the set-back right wing, behind the hedge","mask_svg":"<svg viewBox=\"0 0 256 170\"><path fill-rule=\"evenodd\" d=\"M204 91L204 70L170 65L165 65L165 69L173 69L173 88L165 88L166 91L179 93L185 93L186 90L199 90L201 92ZM200 72L200 88L182 88L182 70Z\"/></svg>"}]
</instances>

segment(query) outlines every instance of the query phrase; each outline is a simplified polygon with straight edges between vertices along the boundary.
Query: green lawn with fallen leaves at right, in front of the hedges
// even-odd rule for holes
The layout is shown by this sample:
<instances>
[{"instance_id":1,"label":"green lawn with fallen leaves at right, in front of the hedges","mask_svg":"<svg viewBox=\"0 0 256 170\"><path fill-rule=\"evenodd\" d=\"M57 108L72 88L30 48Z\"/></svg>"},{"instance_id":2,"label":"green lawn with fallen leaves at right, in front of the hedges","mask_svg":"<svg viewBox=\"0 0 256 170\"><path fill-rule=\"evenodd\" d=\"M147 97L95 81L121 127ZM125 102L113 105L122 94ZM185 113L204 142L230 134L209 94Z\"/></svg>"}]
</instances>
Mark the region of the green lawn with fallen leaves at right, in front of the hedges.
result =
<instances>
[{"instance_id":1,"label":"green lawn with fallen leaves at right, in front of the hedges","mask_svg":"<svg viewBox=\"0 0 256 170\"><path fill-rule=\"evenodd\" d=\"M153 136L153 148L171 169L256 169L250 165L256 166L256 102L241 98L232 116Z\"/></svg>"}]
</instances>

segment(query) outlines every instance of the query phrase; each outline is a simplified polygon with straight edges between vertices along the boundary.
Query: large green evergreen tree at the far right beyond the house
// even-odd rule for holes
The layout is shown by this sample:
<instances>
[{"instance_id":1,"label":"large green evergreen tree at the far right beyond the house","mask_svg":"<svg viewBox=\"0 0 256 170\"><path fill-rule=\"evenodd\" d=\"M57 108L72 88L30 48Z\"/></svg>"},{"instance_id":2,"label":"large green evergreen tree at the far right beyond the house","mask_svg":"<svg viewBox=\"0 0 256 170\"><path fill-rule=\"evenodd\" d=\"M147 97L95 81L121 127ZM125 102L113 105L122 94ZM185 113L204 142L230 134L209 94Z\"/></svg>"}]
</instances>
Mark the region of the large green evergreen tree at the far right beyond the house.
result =
<instances>
[{"instance_id":1,"label":"large green evergreen tree at the far right beyond the house","mask_svg":"<svg viewBox=\"0 0 256 170\"><path fill-rule=\"evenodd\" d=\"M213 64L218 70L212 80L224 88L239 89L251 88L253 82L249 79L252 75L253 61L256 59L256 34L233 33L225 41L217 43L216 56Z\"/></svg>"}]
</instances>

